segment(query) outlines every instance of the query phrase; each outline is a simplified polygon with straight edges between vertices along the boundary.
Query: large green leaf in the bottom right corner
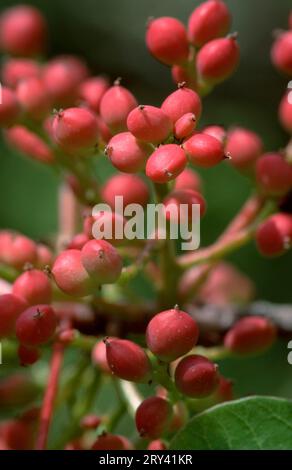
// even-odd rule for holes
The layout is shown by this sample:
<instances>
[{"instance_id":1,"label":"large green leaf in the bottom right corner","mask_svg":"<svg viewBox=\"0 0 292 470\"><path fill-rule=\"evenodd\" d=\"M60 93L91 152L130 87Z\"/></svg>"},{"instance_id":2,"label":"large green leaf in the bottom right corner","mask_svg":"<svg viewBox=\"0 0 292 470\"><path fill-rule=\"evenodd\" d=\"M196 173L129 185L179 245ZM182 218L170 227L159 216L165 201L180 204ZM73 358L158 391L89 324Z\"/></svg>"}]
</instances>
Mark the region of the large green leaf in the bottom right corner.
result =
<instances>
[{"instance_id":1,"label":"large green leaf in the bottom right corner","mask_svg":"<svg viewBox=\"0 0 292 470\"><path fill-rule=\"evenodd\" d=\"M170 448L292 449L292 401L255 396L217 405L189 421Z\"/></svg>"}]
</instances>

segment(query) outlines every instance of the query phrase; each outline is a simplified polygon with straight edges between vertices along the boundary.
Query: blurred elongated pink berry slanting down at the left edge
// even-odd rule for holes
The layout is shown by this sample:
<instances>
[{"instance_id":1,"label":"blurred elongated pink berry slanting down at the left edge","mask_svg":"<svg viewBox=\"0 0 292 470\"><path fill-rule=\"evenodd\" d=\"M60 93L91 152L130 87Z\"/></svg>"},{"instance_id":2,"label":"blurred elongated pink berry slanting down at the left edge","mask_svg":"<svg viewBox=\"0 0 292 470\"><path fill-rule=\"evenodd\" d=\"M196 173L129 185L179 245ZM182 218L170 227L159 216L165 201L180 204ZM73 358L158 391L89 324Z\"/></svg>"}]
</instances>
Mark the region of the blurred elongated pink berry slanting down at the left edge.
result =
<instances>
[{"instance_id":1,"label":"blurred elongated pink berry slanting down at the left edge","mask_svg":"<svg viewBox=\"0 0 292 470\"><path fill-rule=\"evenodd\" d=\"M32 131L24 126L14 126L5 133L7 142L11 147L29 158L41 163L52 164L55 161L50 147Z\"/></svg>"}]
</instances>

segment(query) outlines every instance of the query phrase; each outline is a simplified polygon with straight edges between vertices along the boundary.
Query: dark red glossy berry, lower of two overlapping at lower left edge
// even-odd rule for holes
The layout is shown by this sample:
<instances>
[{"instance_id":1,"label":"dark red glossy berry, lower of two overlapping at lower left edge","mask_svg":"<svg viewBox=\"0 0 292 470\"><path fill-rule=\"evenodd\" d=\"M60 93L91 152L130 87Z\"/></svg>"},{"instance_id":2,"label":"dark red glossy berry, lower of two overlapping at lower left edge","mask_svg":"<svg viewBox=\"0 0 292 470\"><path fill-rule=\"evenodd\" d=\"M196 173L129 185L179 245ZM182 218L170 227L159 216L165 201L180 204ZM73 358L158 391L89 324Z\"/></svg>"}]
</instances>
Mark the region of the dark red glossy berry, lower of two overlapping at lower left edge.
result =
<instances>
[{"instance_id":1,"label":"dark red glossy berry, lower of two overlapping at lower left edge","mask_svg":"<svg viewBox=\"0 0 292 470\"><path fill-rule=\"evenodd\" d=\"M57 317L49 305L34 305L25 310L16 321L16 336L25 346L47 343L54 335Z\"/></svg>"}]
</instances>

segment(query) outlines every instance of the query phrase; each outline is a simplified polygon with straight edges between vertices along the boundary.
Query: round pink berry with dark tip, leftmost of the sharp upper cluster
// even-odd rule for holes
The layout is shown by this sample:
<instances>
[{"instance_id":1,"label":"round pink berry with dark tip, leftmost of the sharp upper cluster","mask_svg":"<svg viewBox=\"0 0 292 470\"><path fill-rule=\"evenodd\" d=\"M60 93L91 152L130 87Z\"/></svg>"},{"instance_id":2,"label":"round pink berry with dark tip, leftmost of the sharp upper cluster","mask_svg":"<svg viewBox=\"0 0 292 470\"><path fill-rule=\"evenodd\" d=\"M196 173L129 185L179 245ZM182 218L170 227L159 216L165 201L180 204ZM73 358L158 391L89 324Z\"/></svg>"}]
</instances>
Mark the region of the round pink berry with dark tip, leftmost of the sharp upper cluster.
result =
<instances>
[{"instance_id":1,"label":"round pink berry with dark tip, leftmost of the sharp upper cluster","mask_svg":"<svg viewBox=\"0 0 292 470\"><path fill-rule=\"evenodd\" d=\"M94 114L84 108L59 112L53 123L54 137L66 152L86 152L97 143L98 127Z\"/></svg>"}]
</instances>

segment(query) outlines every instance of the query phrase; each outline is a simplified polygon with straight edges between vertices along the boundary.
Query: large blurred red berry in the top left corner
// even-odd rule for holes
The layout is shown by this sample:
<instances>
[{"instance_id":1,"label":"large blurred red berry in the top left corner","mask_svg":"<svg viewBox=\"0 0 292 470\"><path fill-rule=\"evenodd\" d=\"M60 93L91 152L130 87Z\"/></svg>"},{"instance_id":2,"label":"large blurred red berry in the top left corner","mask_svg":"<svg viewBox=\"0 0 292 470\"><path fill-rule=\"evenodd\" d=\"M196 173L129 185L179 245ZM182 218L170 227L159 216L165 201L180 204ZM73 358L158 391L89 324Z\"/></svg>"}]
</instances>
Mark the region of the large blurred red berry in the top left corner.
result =
<instances>
[{"instance_id":1,"label":"large blurred red berry in the top left corner","mask_svg":"<svg viewBox=\"0 0 292 470\"><path fill-rule=\"evenodd\" d=\"M5 10L0 17L0 47L12 55L30 56L42 52L47 26L42 14L28 5Z\"/></svg>"}]
</instances>

